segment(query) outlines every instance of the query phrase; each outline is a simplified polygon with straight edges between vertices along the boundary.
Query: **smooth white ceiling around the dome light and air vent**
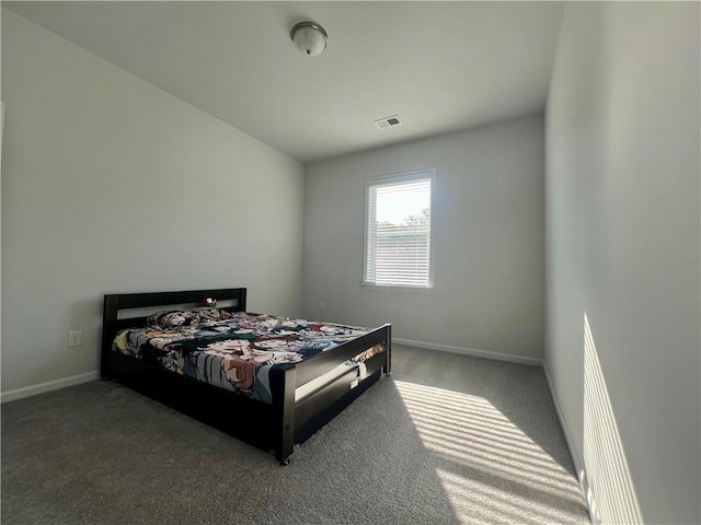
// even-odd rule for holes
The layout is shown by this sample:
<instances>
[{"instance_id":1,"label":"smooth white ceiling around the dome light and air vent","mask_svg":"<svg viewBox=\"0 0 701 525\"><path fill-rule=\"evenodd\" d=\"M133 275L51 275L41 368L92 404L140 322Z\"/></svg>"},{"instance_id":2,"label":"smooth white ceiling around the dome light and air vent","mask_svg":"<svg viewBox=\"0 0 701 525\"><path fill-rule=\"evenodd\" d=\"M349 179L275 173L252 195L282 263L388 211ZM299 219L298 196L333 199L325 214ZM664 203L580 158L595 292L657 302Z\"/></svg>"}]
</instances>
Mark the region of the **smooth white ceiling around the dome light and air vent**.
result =
<instances>
[{"instance_id":1,"label":"smooth white ceiling around the dome light and air vent","mask_svg":"<svg viewBox=\"0 0 701 525\"><path fill-rule=\"evenodd\" d=\"M302 161L531 115L560 2L2 2ZM289 38L329 32L309 58ZM402 126L372 121L399 115Z\"/></svg>"}]
</instances>

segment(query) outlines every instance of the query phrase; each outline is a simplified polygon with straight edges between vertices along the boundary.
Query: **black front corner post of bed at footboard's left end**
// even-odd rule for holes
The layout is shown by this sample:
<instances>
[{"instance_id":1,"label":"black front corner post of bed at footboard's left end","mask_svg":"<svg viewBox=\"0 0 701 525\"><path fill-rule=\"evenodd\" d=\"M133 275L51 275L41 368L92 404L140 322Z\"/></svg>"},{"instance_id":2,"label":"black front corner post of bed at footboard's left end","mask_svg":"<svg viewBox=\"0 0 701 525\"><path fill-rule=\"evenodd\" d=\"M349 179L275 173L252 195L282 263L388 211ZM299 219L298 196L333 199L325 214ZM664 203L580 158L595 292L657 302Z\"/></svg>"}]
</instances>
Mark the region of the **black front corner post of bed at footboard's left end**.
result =
<instances>
[{"instance_id":1,"label":"black front corner post of bed at footboard's left end","mask_svg":"<svg viewBox=\"0 0 701 525\"><path fill-rule=\"evenodd\" d=\"M297 386L297 369L294 364L283 364L273 369L272 387L276 406L278 427L275 458L281 465L289 464L289 456L295 451L295 387Z\"/></svg>"}]
</instances>

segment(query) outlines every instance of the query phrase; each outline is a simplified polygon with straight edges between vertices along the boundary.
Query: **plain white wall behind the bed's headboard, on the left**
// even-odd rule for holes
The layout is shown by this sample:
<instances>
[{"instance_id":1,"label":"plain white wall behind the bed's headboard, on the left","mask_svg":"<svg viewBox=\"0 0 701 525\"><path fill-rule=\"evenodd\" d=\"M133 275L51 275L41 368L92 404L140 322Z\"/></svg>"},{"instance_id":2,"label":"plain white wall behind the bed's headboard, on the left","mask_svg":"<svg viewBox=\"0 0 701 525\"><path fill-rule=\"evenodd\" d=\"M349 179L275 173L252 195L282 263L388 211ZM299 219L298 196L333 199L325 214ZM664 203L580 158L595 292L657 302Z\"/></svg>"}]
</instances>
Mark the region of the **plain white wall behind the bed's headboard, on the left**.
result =
<instances>
[{"instance_id":1,"label":"plain white wall behind the bed's headboard, on the left","mask_svg":"<svg viewBox=\"0 0 701 525\"><path fill-rule=\"evenodd\" d=\"M2 100L3 392L95 371L103 293L299 314L300 163L7 10Z\"/></svg>"}]
</instances>

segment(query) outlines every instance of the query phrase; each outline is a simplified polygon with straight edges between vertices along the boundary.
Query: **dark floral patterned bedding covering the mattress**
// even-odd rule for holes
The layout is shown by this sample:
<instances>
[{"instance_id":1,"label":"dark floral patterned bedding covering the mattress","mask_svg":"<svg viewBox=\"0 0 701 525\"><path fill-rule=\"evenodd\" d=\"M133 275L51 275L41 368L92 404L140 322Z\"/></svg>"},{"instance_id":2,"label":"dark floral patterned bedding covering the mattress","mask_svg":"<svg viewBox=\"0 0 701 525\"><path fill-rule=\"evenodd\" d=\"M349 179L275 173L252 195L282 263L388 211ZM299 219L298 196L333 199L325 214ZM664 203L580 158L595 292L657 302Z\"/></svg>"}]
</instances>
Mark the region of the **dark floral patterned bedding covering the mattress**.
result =
<instances>
[{"instance_id":1,"label":"dark floral patterned bedding covering the mattress","mask_svg":"<svg viewBox=\"0 0 701 525\"><path fill-rule=\"evenodd\" d=\"M272 402L271 369L297 363L367 334L367 328L237 312L186 326L128 328L112 349L177 374ZM346 364L382 351L372 347Z\"/></svg>"}]
</instances>

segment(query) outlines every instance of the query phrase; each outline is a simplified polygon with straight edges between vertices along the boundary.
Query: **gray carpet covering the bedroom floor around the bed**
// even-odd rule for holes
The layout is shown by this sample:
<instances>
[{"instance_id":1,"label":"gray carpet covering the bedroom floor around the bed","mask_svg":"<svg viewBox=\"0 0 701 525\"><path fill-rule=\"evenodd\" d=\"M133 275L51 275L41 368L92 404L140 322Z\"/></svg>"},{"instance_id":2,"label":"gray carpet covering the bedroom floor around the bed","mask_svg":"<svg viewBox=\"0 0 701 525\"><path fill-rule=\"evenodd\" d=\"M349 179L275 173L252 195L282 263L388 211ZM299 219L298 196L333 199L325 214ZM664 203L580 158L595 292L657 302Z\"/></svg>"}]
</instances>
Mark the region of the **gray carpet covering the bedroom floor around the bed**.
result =
<instances>
[{"instance_id":1,"label":"gray carpet covering the bedroom floor around the bed","mask_svg":"<svg viewBox=\"0 0 701 525\"><path fill-rule=\"evenodd\" d=\"M393 366L287 467L114 382L8 402L2 523L589 523L541 369Z\"/></svg>"}]
</instances>

